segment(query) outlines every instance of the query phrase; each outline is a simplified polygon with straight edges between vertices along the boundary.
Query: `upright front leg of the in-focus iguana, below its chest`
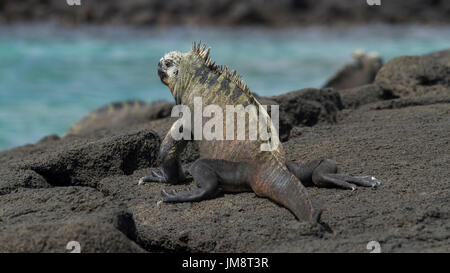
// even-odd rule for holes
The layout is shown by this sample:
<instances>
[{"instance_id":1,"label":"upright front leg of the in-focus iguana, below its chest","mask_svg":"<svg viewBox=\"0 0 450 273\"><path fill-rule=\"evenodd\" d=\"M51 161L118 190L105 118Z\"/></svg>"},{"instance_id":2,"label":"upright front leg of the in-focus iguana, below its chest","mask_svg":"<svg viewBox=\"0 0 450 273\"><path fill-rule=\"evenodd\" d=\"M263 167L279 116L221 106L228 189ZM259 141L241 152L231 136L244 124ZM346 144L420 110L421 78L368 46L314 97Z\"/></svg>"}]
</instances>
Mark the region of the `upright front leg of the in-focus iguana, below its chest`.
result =
<instances>
[{"instance_id":1,"label":"upright front leg of the in-focus iguana, below its chest","mask_svg":"<svg viewBox=\"0 0 450 273\"><path fill-rule=\"evenodd\" d=\"M161 143L160 157L162 159L162 166L160 173L152 171L152 175L144 176L139 179L139 184L146 182L163 182L169 184L178 184L186 180L187 171L183 171L179 157L187 145L187 140L175 140L172 138L172 127Z\"/></svg>"}]
</instances>

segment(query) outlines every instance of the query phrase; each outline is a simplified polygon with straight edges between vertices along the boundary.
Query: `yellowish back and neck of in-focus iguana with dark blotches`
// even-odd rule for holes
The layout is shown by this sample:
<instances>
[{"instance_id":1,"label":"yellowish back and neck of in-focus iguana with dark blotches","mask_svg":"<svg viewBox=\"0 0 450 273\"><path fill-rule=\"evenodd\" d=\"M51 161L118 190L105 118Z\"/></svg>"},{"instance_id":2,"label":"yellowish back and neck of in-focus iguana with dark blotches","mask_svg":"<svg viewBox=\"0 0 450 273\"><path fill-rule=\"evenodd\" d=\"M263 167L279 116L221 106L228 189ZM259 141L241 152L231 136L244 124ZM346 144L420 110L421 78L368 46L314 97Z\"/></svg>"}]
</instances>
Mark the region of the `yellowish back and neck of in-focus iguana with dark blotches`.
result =
<instances>
[{"instance_id":1,"label":"yellowish back and neck of in-focus iguana with dark blotches","mask_svg":"<svg viewBox=\"0 0 450 273\"><path fill-rule=\"evenodd\" d=\"M252 95L250 89L237 75L235 71L229 71L228 67L217 66L212 63L208 56L209 50L200 45L193 45L193 49L184 55L179 67L179 75L181 75L175 86L175 97L177 103L187 105L190 109L194 109L194 98L201 98L202 108L207 105L217 105L223 109L223 139L226 139L226 129L229 123L226 121L227 106L242 105L243 108L248 105L254 105L256 113L254 115L246 115L245 123L245 140L237 140L238 129L236 118L233 120L234 140L203 140L198 141L201 156L208 158L233 160L233 161L262 161L268 160L279 161L284 166L286 161L283 147L278 138L278 132L272 131L271 143L274 149L271 151L263 151L261 144L267 142L260 138L250 140L249 130L250 123L257 124L255 117L260 115L265 118L268 128L274 128L271 124L270 117L264 108L260 108L260 103ZM202 126L209 118L203 118ZM272 126L271 126L272 125ZM195 127L195 126L194 126ZM193 128L193 133L196 128Z\"/></svg>"}]
</instances>

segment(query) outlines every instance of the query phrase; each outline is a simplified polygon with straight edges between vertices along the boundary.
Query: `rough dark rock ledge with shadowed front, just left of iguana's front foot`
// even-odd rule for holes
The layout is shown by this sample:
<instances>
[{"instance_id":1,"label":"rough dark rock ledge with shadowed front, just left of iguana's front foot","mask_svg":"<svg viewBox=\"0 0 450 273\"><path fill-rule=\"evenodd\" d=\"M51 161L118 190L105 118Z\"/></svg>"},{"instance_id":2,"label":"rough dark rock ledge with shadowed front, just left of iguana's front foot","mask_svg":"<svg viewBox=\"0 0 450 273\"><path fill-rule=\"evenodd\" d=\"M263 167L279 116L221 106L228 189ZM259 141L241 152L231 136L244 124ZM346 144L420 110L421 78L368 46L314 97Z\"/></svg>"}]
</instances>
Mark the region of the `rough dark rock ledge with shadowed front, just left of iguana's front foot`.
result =
<instances>
[{"instance_id":1,"label":"rough dark rock ledge with shadowed front, just left of iguana's front foot","mask_svg":"<svg viewBox=\"0 0 450 273\"><path fill-rule=\"evenodd\" d=\"M54 186L95 187L106 176L157 166L159 143L153 131L137 131L93 142L75 142L19 166L34 170Z\"/></svg>"}]
</instances>

